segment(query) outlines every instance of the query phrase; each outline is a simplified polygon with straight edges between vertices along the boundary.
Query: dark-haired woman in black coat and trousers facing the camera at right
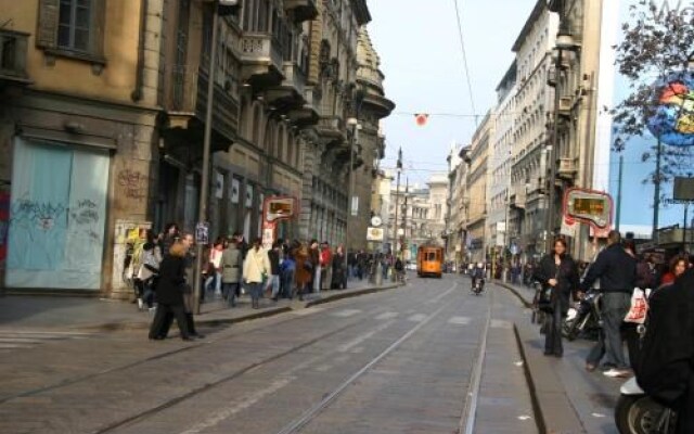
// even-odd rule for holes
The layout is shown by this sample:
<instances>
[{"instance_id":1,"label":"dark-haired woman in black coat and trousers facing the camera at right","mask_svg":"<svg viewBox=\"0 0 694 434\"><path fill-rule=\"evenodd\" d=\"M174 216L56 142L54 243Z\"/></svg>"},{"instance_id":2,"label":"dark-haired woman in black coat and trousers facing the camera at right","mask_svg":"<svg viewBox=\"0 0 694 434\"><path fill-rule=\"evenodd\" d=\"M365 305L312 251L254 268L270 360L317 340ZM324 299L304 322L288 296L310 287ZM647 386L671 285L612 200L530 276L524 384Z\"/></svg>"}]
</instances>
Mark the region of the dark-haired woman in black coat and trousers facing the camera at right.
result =
<instances>
[{"instance_id":1,"label":"dark-haired woman in black coat and trousers facing the camera at right","mask_svg":"<svg viewBox=\"0 0 694 434\"><path fill-rule=\"evenodd\" d=\"M566 241L554 241L554 251L544 256L535 270L535 279L543 288L552 289L551 312L547 315L544 355L562 357L562 321L568 314L570 296L578 290L578 266L566 253Z\"/></svg>"}]
</instances>

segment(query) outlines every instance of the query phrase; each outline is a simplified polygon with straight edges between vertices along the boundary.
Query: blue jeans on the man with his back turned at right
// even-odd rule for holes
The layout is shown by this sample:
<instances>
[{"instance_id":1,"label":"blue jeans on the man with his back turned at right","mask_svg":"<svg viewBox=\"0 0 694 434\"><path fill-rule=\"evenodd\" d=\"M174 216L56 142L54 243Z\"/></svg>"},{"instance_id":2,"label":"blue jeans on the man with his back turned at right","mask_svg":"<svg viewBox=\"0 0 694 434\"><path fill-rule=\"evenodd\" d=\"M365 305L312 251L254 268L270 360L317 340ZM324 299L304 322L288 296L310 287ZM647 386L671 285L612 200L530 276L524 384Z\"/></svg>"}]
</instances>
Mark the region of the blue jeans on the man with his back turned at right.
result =
<instances>
[{"instance_id":1,"label":"blue jeans on the man with his back turned at right","mask_svg":"<svg viewBox=\"0 0 694 434\"><path fill-rule=\"evenodd\" d=\"M631 304L631 294L606 292L603 295L602 303L606 362L615 365L617 369L627 369L629 365L625 357L621 341L621 324Z\"/></svg>"}]
</instances>

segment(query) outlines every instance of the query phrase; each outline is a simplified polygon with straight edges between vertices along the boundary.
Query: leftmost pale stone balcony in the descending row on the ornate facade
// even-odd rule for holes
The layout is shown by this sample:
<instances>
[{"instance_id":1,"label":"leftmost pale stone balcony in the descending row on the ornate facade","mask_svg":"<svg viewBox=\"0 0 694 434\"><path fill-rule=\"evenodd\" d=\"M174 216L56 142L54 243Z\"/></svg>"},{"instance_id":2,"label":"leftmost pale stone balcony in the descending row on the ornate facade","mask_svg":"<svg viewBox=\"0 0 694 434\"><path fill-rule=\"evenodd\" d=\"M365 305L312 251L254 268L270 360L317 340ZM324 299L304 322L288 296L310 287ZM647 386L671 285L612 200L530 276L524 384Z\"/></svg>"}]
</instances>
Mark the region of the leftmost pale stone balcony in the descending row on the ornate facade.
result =
<instances>
[{"instance_id":1,"label":"leftmost pale stone balcony in the descending row on the ornate facade","mask_svg":"<svg viewBox=\"0 0 694 434\"><path fill-rule=\"evenodd\" d=\"M280 41L269 33L247 33L240 43L243 80L254 87L279 86L284 79Z\"/></svg>"}]
</instances>

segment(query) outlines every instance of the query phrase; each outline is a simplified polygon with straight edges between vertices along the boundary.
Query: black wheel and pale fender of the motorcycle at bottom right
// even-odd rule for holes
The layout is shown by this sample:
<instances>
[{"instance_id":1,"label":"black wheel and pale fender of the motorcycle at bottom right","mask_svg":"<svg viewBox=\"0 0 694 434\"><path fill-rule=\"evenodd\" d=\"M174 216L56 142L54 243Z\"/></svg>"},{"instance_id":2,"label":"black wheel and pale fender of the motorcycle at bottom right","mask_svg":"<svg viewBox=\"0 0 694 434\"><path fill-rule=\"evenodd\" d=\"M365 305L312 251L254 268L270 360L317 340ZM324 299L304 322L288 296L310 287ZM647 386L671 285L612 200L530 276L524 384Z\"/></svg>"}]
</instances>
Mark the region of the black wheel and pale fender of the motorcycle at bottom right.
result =
<instances>
[{"instance_id":1,"label":"black wheel and pale fender of the motorcycle at bottom right","mask_svg":"<svg viewBox=\"0 0 694 434\"><path fill-rule=\"evenodd\" d=\"M671 434L676 429L677 414L671 409L648 397L637 379L621 385L615 423L619 434Z\"/></svg>"}]
</instances>

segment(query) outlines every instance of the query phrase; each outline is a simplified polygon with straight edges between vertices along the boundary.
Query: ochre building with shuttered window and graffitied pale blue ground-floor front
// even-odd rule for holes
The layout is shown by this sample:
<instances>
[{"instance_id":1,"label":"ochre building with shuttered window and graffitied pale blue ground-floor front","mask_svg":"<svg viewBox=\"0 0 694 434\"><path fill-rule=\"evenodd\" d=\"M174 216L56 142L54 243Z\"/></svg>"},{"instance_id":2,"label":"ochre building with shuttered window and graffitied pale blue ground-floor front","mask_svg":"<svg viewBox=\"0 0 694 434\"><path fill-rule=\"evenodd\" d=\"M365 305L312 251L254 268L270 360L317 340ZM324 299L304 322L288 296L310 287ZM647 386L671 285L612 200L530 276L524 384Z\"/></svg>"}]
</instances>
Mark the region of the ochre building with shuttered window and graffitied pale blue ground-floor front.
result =
<instances>
[{"instance_id":1,"label":"ochre building with shuttered window and graffitied pale blue ground-floor front","mask_svg":"<svg viewBox=\"0 0 694 434\"><path fill-rule=\"evenodd\" d=\"M121 285L118 224L154 213L162 8L0 1L3 286Z\"/></svg>"}]
</instances>

